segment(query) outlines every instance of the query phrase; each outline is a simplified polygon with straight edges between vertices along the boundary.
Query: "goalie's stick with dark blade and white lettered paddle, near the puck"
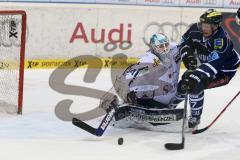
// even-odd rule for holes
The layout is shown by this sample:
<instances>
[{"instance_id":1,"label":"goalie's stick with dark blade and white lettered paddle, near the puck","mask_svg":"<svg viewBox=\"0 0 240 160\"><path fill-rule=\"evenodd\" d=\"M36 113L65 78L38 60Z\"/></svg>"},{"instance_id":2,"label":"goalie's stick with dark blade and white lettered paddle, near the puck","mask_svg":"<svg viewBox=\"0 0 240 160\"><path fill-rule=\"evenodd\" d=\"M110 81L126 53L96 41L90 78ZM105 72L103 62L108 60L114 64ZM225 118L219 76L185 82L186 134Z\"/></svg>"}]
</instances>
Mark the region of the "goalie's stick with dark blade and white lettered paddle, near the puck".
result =
<instances>
[{"instance_id":1,"label":"goalie's stick with dark blade and white lettered paddle, near the puck","mask_svg":"<svg viewBox=\"0 0 240 160\"><path fill-rule=\"evenodd\" d=\"M114 116L114 113L115 113L115 108L112 108L106 115L105 117L103 118L101 124L99 125L98 128L94 128L90 125L88 125L87 123L81 121L80 119L77 119L77 118L73 118L72 119L72 124L95 135L95 136L102 136L103 133L105 132L105 130L107 129L108 125L110 124L113 116Z\"/></svg>"}]
</instances>

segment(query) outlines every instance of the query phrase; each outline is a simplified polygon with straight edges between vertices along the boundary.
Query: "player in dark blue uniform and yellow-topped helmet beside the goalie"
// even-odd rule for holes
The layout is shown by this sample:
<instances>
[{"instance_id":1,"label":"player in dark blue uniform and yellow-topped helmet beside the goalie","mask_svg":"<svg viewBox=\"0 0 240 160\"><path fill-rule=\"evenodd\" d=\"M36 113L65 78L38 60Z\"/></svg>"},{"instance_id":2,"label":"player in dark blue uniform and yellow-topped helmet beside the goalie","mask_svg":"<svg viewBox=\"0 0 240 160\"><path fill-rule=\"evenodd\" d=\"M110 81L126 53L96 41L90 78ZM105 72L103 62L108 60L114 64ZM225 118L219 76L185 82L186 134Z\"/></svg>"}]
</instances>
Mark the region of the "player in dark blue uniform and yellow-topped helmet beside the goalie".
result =
<instances>
[{"instance_id":1,"label":"player in dark blue uniform and yellow-topped helmet beside the goalie","mask_svg":"<svg viewBox=\"0 0 240 160\"><path fill-rule=\"evenodd\" d=\"M186 93L189 94L189 128L195 128L200 123L204 90L228 84L239 66L239 54L221 22L222 14L209 9L200 16L200 23L193 24L182 36L179 51L188 70L179 82L172 105L177 105Z\"/></svg>"}]
</instances>

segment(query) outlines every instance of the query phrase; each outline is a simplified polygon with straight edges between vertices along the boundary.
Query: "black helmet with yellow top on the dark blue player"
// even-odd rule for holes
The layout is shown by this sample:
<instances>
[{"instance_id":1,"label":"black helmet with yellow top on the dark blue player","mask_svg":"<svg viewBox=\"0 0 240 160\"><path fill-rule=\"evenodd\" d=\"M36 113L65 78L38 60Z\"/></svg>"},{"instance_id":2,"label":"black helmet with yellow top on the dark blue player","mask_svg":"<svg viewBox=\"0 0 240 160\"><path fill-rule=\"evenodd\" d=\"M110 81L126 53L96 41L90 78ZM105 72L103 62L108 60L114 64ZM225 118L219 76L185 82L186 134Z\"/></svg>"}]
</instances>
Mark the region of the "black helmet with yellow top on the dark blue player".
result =
<instances>
[{"instance_id":1,"label":"black helmet with yellow top on the dark blue player","mask_svg":"<svg viewBox=\"0 0 240 160\"><path fill-rule=\"evenodd\" d=\"M222 13L209 9L200 16L200 22L219 25L222 22Z\"/></svg>"}]
</instances>

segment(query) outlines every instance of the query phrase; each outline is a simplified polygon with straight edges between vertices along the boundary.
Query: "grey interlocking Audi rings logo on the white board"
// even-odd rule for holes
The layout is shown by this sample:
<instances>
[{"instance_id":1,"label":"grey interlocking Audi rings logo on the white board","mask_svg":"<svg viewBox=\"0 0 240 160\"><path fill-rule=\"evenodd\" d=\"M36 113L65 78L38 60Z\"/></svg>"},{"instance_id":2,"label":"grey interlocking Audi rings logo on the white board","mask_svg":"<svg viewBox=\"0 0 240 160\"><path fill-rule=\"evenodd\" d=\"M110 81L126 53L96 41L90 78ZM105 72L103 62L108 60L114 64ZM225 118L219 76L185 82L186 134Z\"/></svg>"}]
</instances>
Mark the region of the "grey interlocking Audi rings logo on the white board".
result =
<instances>
[{"instance_id":1,"label":"grey interlocking Audi rings logo on the white board","mask_svg":"<svg viewBox=\"0 0 240 160\"><path fill-rule=\"evenodd\" d=\"M164 33L171 41L178 42L181 39L182 34L188 29L189 25L184 22L172 23L172 22L151 22L144 29L143 41L146 45L149 44L149 39L154 33Z\"/></svg>"}]
</instances>

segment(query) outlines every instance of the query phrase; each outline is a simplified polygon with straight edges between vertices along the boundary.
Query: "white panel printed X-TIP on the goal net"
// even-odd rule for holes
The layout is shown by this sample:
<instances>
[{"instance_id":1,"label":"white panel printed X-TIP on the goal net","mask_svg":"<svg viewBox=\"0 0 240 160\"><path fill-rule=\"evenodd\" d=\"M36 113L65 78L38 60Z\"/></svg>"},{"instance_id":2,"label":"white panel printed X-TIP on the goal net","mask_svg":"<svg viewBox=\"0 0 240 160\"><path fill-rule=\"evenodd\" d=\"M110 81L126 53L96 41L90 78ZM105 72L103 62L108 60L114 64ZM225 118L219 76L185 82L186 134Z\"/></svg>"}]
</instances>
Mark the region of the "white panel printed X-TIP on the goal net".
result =
<instances>
[{"instance_id":1,"label":"white panel printed X-TIP on the goal net","mask_svg":"<svg viewBox=\"0 0 240 160\"><path fill-rule=\"evenodd\" d=\"M0 46L20 46L21 23L22 22L16 18L0 19Z\"/></svg>"}]
</instances>

